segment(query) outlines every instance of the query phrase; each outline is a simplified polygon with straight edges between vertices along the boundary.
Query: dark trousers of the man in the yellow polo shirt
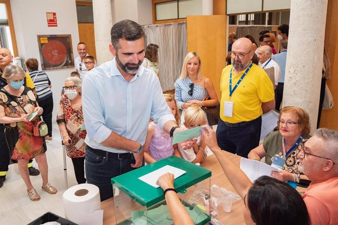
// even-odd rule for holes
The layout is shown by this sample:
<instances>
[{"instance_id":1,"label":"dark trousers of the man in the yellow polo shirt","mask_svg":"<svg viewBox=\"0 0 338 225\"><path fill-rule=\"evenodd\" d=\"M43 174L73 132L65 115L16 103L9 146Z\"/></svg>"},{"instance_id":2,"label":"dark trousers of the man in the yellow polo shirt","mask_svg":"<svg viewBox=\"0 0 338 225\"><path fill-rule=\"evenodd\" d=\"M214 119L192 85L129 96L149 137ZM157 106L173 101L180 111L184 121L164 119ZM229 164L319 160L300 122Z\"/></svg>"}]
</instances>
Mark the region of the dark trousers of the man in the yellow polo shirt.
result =
<instances>
[{"instance_id":1,"label":"dark trousers of the man in the yellow polo shirt","mask_svg":"<svg viewBox=\"0 0 338 225\"><path fill-rule=\"evenodd\" d=\"M222 150L247 158L249 152L259 145L261 126L261 116L233 126L228 126L219 119L216 131L217 144Z\"/></svg>"}]
</instances>

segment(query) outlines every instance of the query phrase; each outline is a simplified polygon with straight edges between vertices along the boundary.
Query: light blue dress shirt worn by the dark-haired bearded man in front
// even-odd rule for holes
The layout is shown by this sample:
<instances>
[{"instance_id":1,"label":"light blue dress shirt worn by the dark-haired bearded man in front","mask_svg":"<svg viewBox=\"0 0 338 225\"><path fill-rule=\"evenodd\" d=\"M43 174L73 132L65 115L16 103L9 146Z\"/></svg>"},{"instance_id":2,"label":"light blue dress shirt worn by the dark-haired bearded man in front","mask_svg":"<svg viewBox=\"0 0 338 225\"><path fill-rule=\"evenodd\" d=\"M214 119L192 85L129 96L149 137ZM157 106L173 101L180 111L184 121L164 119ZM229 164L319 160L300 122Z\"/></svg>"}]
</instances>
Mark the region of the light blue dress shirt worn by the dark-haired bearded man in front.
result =
<instances>
[{"instance_id":1,"label":"light blue dress shirt worn by the dark-haired bearded man in front","mask_svg":"<svg viewBox=\"0 0 338 225\"><path fill-rule=\"evenodd\" d=\"M87 129L86 144L113 153L129 151L100 144L112 131L144 145L149 118L153 118L161 129L167 121L175 121L157 75L140 67L127 82L115 59L93 68L84 77L82 109Z\"/></svg>"}]
</instances>

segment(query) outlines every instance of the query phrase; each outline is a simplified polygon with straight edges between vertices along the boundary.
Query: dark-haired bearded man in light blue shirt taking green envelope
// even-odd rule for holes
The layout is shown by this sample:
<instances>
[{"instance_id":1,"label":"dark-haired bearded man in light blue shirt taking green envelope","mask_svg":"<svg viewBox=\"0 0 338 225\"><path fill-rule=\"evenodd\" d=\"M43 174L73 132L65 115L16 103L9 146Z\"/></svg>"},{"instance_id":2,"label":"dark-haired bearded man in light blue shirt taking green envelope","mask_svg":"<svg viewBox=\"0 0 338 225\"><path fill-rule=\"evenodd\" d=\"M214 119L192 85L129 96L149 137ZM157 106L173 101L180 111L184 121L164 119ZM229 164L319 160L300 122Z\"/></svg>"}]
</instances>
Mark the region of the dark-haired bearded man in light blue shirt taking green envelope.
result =
<instances>
[{"instance_id":1,"label":"dark-haired bearded man in light blue shirt taking green envelope","mask_svg":"<svg viewBox=\"0 0 338 225\"><path fill-rule=\"evenodd\" d=\"M120 21L112 27L111 36L109 50L115 59L90 70L82 85L86 178L98 186L101 201L113 197L111 178L144 165L149 118L170 135L179 130L157 75L140 67L145 41L142 27ZM190 145L192 141L184 146Z\"/></svg>"}]
</instances>

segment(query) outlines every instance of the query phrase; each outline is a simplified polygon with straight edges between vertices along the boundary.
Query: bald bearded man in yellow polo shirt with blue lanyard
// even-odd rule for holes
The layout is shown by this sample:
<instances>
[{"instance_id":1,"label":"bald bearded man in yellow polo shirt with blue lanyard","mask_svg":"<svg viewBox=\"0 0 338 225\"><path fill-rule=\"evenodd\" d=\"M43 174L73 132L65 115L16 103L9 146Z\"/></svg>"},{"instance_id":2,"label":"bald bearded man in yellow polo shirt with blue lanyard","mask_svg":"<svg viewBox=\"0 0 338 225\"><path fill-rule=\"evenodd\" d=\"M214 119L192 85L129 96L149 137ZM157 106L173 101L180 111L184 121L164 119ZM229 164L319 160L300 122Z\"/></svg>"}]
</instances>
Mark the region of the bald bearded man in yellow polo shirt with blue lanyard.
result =
<instances>
[{"instance_id":1,"label":"bald bearded man in yellow polo shirt with blue lanyard","mask_svg":"<svg viewBox=\"0 0 338 225\"><path fill-rule=\"evenodd\" d=\"M247 158L259 145L263 113L275 107L274 88L266 72L253 64L251 41L240 38L231 51L231 65L222 71L217 143L225 151Z\"/></svg>"}]
</instances>

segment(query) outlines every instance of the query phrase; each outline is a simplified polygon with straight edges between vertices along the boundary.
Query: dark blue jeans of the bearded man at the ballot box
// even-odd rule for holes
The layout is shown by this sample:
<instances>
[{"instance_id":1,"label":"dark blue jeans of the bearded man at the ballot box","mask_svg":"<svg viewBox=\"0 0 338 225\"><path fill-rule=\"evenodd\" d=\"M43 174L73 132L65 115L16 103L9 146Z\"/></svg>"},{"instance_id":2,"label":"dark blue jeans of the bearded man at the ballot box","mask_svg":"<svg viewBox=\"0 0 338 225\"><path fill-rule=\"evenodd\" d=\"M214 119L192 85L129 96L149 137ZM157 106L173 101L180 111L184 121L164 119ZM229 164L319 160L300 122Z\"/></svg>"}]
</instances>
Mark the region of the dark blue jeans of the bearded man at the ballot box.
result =
<instances>
[{"instance_id":1,"label":"dark blue jeans of the bearded man at the ballot box","mask_svg":"<svg viewBox=\"0 0 338 225\"><path fill-rule=\"evenodd\" d=\"M101 201L113 197L111 179L134 170L130 166L131 163L135 163L133 154L110 153L87 145L85 157L87 183L98 187Z\"/></svg>"}]
</instances>

